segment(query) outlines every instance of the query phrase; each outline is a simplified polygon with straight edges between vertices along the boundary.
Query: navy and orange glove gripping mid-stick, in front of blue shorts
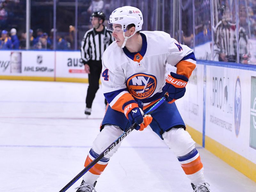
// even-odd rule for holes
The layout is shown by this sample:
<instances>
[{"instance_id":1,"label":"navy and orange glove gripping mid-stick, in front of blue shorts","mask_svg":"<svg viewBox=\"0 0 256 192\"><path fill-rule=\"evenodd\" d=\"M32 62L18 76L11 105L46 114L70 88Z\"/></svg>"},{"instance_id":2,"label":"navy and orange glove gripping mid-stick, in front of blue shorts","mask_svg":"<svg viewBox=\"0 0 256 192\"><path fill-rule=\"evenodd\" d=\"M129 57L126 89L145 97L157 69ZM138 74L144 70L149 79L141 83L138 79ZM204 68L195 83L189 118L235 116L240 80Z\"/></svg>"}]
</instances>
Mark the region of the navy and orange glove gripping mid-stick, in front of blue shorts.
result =
<instances>
[{"instance_id":1,"label":"navy and orange glove gripping mid-stick, in front of blue shorts","mask_svg":"<svg viewBox=\"0 0 256 192\"><path fill-rule=\"evenodd\" d=\"M139 104L135 100L128 101L124 104L123 110L124 110L124 115L126 118L129 120L131 124L136 123L136 130L143 131L144 128L146 128L151 122L152 122L152 117L151 115L144 115L143 111L141 108L143 108L143 104L141 101L138 101Z\"/></svg>"}]
</instances>

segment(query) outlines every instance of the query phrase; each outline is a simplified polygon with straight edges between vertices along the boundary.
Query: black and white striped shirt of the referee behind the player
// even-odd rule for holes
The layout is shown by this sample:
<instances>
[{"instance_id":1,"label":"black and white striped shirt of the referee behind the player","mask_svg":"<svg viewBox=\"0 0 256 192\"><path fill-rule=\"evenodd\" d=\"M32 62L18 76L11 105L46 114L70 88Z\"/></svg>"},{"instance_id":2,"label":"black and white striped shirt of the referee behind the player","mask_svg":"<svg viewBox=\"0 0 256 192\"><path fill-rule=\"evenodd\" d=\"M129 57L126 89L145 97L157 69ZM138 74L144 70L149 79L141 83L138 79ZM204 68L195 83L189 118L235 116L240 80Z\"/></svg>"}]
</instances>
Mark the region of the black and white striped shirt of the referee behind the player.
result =
<instances>
[{"instance_id":1,"label":"black and white striped shirt of the referee behind the player","mask_svg":"<svg viewBox=\"0 0 256 192\"><path fill-rule=\"evenodd\" d=\"M89 60L100 61L102 59L103 52L114 41L111 35L112 32L108 31L106 27L102 31L92 28L85 33L81 46L81 57L84 64Z\"/></svg>"}]
</instances>

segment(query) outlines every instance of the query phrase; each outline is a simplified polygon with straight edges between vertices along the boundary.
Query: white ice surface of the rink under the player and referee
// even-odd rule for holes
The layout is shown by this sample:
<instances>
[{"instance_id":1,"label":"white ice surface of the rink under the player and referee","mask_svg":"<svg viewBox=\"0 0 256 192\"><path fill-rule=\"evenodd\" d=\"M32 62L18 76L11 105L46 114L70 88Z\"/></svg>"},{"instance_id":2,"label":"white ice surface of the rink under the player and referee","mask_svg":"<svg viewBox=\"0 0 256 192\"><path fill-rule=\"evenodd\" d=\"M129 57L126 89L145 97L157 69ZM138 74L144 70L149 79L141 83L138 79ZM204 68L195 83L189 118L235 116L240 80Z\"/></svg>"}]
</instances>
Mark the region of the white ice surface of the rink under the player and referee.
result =
<instances>
[{"instance_id":1,"label":"white ice surface of the rink under the player and referee","mask_svg":"<svg viewBox=\"0 0 256 192\"><path fill-rule=\"evenodd\" d=\"M84 168L105 106L101 89L85 118L88 84L0 80L0 191L58 192ZM212 192L256 183L198 146ZM68 191L75 192L81 179ZM192 192L177 158L150 128L134 130L98 179L97 192Z\"/></svg>"}]
</instances>

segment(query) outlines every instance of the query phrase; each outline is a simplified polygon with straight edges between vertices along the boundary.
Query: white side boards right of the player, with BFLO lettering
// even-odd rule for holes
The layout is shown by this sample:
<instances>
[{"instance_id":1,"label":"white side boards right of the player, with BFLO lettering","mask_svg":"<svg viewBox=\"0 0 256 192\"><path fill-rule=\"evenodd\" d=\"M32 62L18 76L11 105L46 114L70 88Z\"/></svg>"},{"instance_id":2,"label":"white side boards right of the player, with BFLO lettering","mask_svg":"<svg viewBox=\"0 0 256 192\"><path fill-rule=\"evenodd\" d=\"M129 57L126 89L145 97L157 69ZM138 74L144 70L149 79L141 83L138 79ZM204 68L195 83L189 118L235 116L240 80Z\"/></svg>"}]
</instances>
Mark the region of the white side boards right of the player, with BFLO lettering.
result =
<instances>
[{"instance_id":1,"label":"white side boards right of the player, with BFLO lettering","mask_svg":"<svg viewBox=\"0 0 256 192\"><path fill-rule=\"evenodd\" d=\"M176 101L193 139L256 181L256 68L198 61Z\"/></svg>"}]
</instances>

